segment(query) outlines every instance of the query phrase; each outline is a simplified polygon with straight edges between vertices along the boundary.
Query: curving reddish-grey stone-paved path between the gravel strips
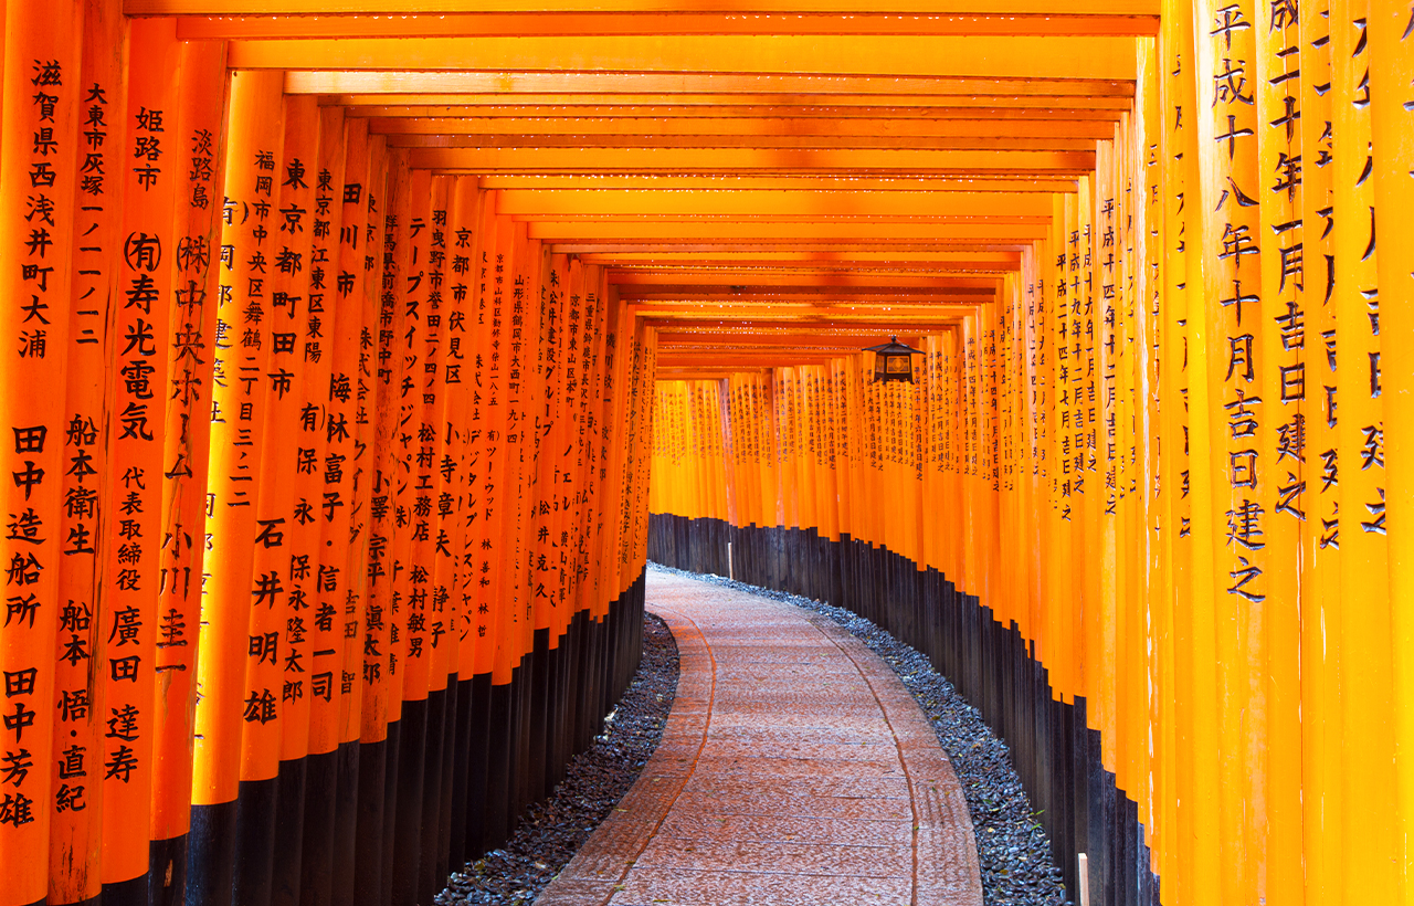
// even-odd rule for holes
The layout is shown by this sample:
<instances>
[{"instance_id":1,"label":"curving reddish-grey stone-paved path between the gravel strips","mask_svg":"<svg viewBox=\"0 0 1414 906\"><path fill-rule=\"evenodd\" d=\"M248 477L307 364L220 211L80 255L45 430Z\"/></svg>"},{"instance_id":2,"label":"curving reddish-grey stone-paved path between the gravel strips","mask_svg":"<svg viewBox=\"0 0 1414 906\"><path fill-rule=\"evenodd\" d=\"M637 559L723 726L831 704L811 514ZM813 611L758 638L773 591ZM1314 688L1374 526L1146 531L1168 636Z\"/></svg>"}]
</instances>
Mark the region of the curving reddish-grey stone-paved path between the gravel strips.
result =
<instances>
[{"instance_id":1,"label":"curving reddish-grey stone-paved path between the gravel strips","mask_svg":"<svg viewBox=\"0 0 1414 906\"><path fill-rule=\"evenodd\" d=\"M889 667L824 616L649 572L663 741L537 906L980 906L963 792Z\"/></svg>"}]
</instances>

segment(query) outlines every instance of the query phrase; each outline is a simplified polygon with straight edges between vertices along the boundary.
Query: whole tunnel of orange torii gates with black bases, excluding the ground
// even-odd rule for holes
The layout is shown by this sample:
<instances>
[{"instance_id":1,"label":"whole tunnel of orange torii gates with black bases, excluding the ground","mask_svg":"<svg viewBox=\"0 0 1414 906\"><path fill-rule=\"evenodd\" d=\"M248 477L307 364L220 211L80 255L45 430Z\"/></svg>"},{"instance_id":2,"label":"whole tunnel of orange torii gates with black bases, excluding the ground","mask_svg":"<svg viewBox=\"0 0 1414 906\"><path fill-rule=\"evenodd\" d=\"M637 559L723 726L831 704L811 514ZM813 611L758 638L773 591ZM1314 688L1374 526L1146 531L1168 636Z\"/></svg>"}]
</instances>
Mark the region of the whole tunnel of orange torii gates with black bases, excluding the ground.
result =
<instances>
[{"instance_id":1,"label":"whole tunnel of orange torii gates with black bases, excluding the ground","mask_svg":"<svg viewBox=\"0 0 1414 906\"><path fill-rule=\"evenodd\" d=\"M1093 902L1414 902L1407 0L329 6L4 4L0 906L430 903L646 554Z\"/></svg>"}]
</instances>

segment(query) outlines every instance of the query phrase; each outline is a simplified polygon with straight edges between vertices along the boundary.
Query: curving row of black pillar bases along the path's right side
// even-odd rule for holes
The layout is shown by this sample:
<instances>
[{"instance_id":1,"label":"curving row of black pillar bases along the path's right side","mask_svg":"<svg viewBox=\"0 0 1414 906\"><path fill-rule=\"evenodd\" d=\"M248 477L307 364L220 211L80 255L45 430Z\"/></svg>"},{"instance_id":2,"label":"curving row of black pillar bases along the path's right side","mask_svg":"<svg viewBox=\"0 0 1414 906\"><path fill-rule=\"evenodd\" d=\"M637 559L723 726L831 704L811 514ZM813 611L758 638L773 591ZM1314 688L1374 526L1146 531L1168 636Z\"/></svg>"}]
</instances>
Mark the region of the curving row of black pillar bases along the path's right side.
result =
<instances>
[{"instance_id":1,"label":"curving row of black pillar bases along the path's right side","mask_svg":"<svg viewBox=\"0 0 1414 906\"><path fill-rule=\"evenodd\" d=\"M1100 734L1086 702L1059 701L1035 646L1012 622L959 591L947 577L887 548L814 529L734 527L713 519L653 513L648 557L655 563L727 575L720 551L732 546L735 578L826 599L887 629L923 653L1007 741L1032 804L1041 811L1068 890L1076 855L1089 858L1093 902L1158 906L1138 806L1100 760Z\"/></svg>"}]
</instances>

